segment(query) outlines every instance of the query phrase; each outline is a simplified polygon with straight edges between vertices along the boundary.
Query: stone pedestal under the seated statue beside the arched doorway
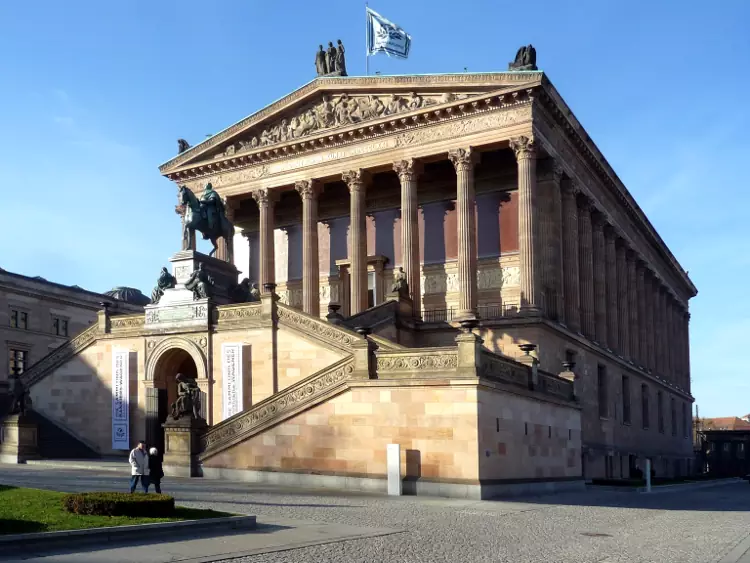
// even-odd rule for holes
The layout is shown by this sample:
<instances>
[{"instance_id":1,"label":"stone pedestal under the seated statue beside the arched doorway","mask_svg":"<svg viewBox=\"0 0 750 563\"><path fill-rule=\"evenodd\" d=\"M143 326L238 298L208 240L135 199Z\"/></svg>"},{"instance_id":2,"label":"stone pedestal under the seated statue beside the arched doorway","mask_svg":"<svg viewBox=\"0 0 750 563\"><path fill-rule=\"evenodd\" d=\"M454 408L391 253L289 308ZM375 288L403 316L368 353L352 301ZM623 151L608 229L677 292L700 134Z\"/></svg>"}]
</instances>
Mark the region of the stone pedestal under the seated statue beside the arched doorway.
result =
<instances>
[{"instance_id":1,"label":"stone pedestal under the seated statue beside the arched doorway","mask_svg":"<svg viewBox=\"0 0 750 563\"><path fill-rule=\"evenodd\" d=\"M167 477L200 477L198 454L206 421L183 417L164 423L164 474Z\"/></svg>"}]
</instances>

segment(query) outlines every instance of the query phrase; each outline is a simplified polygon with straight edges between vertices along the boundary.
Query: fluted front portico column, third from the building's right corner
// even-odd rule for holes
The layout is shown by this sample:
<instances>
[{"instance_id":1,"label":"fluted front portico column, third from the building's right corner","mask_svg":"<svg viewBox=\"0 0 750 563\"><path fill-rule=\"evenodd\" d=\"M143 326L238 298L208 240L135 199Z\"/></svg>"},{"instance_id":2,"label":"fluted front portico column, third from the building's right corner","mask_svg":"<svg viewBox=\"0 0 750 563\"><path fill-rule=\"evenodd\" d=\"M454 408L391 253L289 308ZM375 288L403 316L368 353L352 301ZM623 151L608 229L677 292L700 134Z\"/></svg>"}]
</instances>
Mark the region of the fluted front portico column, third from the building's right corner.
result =
<instances>
[{"instance_id":1,"label":"fluted front portico column, third from the building's right corner","mask_svg":"<svg viewBox=\"0 0 750 563\"><path fill-rule=\"evenodd\" d=\"M414 159L393 163L401 181L401 263L409 284L414 316L422 316L422 289L419 271L419 222L417 217L417 175L419 163Z\"/></svg>"}]
</instances>

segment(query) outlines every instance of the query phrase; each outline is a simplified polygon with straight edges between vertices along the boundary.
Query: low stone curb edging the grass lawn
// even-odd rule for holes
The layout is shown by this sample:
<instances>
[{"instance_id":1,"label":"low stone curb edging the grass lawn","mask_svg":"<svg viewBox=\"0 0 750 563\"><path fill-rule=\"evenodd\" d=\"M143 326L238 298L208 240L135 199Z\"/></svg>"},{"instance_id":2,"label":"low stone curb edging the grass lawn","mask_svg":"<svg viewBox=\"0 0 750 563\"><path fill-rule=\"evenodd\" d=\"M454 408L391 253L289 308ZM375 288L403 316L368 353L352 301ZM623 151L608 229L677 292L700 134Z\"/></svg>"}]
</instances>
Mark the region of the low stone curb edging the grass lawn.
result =
<instances>
[{"instance_id":1,"label":"low stone curb edging the grass lawn","mask_svg":"<svg viewBox=\"0 0 750 563\"><path fill-rule=\"evenodd\" d=\"M74 547L86 543L110 543L169 534L194 532L226 532L229 530L254 530L255 516L225 516L205 518L202 520L183 520L180 522L156 522L154 524L135 524L132 526L109 526L86 530L61 530L59 532L37 532L31 534L12 534L0 536L0 554L3 556L17 551L28 552L47 548Z\"/></svg>"}]
</instances>

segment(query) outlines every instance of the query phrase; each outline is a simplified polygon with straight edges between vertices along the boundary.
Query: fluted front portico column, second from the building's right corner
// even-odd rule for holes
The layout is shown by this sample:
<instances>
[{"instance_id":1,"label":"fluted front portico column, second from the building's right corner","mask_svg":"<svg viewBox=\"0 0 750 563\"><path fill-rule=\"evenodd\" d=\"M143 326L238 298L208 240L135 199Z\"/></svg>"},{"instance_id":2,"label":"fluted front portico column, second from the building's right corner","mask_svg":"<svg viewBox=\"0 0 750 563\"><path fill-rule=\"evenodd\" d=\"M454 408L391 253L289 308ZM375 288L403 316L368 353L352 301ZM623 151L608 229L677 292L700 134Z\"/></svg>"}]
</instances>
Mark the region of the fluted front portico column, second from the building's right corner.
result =
<instances>
[{"instance_id":1,"label":"fluted front portico column, second from the building's right corner","mask_svg":"<svg viewBox=\"0 0 750 563\"><path fill-rule=\"evenodd\" d=\"M455 149L448 158L456 169L458 212L458 318L477 316L477 235L474 198L474 165L478 155L472 149ZM523 278L521 279L523 284Z\"/></svg>"}]
</instances>

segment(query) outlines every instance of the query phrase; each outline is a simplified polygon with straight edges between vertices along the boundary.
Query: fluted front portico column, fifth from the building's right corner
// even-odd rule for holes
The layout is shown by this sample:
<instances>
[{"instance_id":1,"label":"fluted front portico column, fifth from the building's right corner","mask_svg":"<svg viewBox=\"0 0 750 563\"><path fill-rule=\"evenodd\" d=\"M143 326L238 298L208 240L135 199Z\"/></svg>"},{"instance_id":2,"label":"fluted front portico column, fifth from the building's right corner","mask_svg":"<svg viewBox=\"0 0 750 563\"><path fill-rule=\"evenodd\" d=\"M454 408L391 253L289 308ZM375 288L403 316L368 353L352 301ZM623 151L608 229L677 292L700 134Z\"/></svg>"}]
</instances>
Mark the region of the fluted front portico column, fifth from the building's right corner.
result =
<instances>
[{"instance_id":1,"label":"fluted front portico column, fifth from the building's right corner","mask_svg":"<svg viewBox=\"0 0 750 563\"><path fill-rule=\"evenodd\" d=\"M320 183L315 180L295 182L302 198L302 310L320 316L320 267L318 256L318 195Z\"/></svg>"}]
</instances>

